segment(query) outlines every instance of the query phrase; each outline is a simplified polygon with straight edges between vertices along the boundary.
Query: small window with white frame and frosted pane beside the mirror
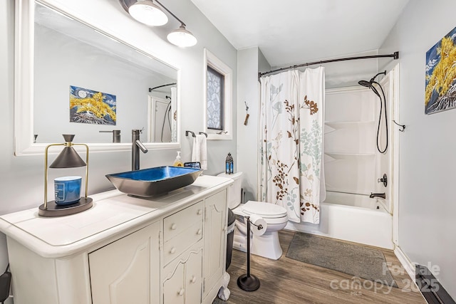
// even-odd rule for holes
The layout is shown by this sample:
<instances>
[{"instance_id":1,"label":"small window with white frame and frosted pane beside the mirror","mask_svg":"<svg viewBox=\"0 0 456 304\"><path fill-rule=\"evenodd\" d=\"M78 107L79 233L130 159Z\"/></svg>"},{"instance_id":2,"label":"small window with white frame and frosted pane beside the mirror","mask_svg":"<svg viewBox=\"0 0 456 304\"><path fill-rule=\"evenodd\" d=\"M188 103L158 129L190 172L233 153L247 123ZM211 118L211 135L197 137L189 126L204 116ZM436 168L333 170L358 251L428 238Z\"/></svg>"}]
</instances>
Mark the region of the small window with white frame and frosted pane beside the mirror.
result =
<instances>
[{"instance_id":1,"label":"small window with white frame and frosted pane beside the mirror","mask_svg":"<svg viewBox=\"0 0 456 304\"><path fill-rule=\"evenodd\" d=\"M208 140L232 140L232 69L204 49Z\"/></svg>"}]
</instances>

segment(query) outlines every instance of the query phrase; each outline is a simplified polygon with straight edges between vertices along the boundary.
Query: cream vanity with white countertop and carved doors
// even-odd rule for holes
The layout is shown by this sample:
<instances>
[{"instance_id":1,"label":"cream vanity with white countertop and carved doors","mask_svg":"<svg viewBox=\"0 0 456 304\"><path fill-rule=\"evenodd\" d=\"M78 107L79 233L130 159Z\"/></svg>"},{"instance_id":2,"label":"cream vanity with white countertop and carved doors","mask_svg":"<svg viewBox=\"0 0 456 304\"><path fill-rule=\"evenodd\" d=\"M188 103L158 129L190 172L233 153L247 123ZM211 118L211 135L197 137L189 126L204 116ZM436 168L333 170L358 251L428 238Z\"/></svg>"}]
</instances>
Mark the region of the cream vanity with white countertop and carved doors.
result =
<instances>
[{"instance_id":1,"label":"cream vanity with white countertop and carved doors","mask_svg":"<svg viewBox=\"0 0 456 304\"><path fill-rule=\"evenodd\" d=\"M0 216L14 303L212 303L227 284L230 184L203 176L148 199L95 194L71 216Z\"/></svg>"}]
</instances>

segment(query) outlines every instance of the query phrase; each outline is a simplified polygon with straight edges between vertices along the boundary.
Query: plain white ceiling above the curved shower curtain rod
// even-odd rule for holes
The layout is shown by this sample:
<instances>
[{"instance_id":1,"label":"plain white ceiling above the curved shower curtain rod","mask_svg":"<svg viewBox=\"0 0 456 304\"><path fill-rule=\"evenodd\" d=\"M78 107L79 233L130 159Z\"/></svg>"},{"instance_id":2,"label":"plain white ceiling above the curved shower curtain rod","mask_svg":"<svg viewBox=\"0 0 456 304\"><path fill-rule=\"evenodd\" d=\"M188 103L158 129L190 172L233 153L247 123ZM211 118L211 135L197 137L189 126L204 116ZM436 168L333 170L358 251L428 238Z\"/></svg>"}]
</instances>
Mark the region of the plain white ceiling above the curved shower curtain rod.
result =
<instances>
[{"instance_id":1,"label":"plain white ceiling above the curved shower curtain rod","mask_svg":"<svg viewBox=\"0 0 456 304\"><path fill-rule=\"evenodd\" d=\"M234 48L272 67L377 50L409 0L191 0Z\"/></svg>"}]
</instances>

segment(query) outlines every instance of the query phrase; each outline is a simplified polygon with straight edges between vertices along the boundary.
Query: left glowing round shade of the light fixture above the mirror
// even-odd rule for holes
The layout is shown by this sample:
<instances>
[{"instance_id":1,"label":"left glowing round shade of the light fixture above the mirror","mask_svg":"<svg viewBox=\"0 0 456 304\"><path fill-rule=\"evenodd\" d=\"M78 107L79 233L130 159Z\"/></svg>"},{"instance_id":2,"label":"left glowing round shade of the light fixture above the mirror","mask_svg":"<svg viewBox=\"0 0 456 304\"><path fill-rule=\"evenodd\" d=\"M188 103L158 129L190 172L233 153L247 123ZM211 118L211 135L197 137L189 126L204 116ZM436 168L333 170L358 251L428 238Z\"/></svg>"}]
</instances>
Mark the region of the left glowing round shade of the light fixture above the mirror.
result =
<instances>
[{"instance_id":1,"label":"left glowing round shade of the light fixture above the mirror","mask_svg":"<svg viewBox=\"0 0 456 304\"><path fill-rule=\"evenodd\" d=\"M128 8L128 13L140 23L148 26L162 26L168 21L166 14L151 0L135 2Z\"/></svg>"}]
</instances>

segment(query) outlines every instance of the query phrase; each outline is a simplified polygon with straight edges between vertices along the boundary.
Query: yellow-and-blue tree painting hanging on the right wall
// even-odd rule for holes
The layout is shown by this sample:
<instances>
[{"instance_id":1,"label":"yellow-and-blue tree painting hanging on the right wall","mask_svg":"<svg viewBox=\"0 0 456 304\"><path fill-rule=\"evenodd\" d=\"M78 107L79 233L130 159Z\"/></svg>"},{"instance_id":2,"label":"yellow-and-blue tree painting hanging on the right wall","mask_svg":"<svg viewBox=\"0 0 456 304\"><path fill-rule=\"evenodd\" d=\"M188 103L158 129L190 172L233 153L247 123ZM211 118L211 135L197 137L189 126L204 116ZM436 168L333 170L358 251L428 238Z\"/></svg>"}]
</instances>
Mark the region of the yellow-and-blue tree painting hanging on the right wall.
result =
<instances>
[{"instance_id":1,"label":"yellow-and-blue tree painting hanging on the right wall","mask_svg":"<svg viewBox=\"0 0 456 304\"><path fill-rule=\"evenodd\" d=\"M456 28L426 52L425 114L456 108Z\"/></svg>"}]
</instances>

